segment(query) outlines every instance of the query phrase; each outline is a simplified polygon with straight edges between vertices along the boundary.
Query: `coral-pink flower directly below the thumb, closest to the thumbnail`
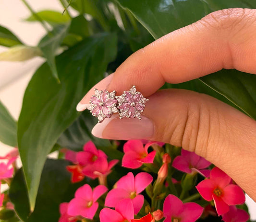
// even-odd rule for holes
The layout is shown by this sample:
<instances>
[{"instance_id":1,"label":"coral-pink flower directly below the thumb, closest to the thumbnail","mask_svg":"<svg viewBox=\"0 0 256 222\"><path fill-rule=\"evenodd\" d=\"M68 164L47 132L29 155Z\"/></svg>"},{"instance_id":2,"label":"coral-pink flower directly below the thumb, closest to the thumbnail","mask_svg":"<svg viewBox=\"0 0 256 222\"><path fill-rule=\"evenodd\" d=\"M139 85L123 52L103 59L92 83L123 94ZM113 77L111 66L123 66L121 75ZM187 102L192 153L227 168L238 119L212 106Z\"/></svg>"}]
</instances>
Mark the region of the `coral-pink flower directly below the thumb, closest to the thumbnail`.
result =
<instances>
[{"instance_id":1,"label":"coral-pink flower directly below the thumb, closest to the thumbnail","mask_svg":"<svg viewBox=\"0 0 256 222\"><path fill-rule=\"evenodd\" d=\"M138 168L144 163L153 163L156 151L147 152L148 147L156 142L150 142L143 146L140 140L129 140L123 145L122 167Z\"/></svg>"}]
</instances>

